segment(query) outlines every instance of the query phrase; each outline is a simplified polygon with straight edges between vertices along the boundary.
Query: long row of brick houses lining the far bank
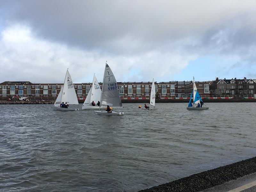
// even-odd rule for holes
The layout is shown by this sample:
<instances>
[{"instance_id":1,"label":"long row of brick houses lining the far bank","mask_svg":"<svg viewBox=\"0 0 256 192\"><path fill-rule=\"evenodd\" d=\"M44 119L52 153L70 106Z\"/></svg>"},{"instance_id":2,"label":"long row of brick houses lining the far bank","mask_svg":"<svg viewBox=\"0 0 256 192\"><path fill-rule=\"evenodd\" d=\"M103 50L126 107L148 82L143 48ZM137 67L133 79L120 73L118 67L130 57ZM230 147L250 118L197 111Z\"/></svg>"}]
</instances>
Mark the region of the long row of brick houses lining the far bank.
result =
<instances>
[{"instance_id":1,"label":"long row of brick houses lining the far bank","mask_svg":"<svg viewBox=\"0 0 256 192\"><path fill-rule=\"evenodd\" d=\"M102 87L102 83L99 83ZM149 99L152 82L118 82L121 99ZM0 84L0 100L13 96L28 97L29 100L55 100L63 84L36 84L29 81L5 81ZM74 84L78 100L85 100L92 83ZM256 93L255 79L219 79L196 82L201 97L241 97L253 98ZM183 99L190 96L192 81L155 82L160 99ZM242 97L244 97L242 96ZM255 97L254 97L255 98Z\"/></svg>"}]
</instances>

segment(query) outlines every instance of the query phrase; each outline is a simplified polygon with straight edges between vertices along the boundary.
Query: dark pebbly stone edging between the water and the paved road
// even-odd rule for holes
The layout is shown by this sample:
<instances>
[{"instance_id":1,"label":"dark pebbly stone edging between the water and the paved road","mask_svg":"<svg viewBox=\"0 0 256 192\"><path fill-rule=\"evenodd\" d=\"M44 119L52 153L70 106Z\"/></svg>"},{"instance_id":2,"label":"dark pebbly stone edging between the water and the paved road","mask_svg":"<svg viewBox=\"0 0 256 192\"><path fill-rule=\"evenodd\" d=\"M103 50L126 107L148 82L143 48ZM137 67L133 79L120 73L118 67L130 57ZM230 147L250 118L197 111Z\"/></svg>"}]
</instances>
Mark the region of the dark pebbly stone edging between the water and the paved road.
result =
<instances>
[{"instance_id":1,"label":"dark pebbly stone edging between the water and the paved road","mask_svg":"<svg viewBox=\"0 0 256 192\"><path fill-rule=\"evenodd\" d=\"M190 175L139 192L197 192L256 172L256 157Z\"/></svg>"}]
</instances>

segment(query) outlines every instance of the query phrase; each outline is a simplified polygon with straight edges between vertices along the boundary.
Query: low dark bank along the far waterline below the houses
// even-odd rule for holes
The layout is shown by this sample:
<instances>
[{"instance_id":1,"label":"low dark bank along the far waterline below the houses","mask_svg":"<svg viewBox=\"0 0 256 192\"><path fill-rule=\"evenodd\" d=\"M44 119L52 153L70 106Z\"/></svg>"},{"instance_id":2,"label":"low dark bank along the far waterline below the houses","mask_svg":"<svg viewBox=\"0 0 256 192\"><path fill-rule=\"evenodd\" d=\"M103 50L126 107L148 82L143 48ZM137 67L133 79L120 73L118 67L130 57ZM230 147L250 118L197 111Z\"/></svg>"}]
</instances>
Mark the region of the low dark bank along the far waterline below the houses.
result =
<instances>
[{"instance_id":1,"label":"low dark bank along the far waterline below the houses","mask_svg":"<svg viewBox=\"0 0 256 192\"><path fill-rule=\"evenodd\" d=\"M256 99L203 99L205 103L241 103L256 102ZM0 101L0 104L54 104L55 101ZM84 103L84 100L78 100ZM156 103L188 103L187 99L162 99L156 100ZM122 100L122 103L149 103L149 100Z\"/></svg>"}]
</instances>

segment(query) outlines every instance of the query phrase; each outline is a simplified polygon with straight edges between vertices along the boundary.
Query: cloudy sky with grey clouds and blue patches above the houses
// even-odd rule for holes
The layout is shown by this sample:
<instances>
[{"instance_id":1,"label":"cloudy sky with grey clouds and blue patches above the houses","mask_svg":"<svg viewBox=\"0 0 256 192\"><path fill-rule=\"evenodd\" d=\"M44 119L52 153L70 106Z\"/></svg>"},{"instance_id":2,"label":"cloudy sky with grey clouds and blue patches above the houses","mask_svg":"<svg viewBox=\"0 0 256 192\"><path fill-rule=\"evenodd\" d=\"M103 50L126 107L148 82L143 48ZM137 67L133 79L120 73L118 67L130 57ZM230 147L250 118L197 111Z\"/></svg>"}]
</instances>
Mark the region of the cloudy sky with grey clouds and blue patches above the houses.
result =
<instances>
[{"instance_id":1,"label":"cloudy sky with grey clouds and blue patches above the houses","mask_svg":"<svg viewBox=\"0 0 256 192\"><path fill-rule=\"evenodd\" d=\"M0 82L256 78L256 1L0 1Z\"/></svg>"}]
</instances>

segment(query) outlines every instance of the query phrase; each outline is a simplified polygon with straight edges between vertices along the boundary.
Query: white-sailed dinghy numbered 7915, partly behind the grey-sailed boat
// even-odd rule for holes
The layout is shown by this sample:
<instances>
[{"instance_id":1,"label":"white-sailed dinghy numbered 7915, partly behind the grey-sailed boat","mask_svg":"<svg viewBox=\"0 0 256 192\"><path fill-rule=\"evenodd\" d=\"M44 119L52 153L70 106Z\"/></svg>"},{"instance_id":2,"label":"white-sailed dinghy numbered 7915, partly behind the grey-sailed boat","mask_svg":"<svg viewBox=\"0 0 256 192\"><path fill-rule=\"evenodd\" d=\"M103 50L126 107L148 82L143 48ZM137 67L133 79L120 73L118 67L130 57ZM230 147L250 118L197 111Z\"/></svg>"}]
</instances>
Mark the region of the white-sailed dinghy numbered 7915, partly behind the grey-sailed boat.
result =
<instances>
[{"instance_id":1,"label":"white-sailed dinghy numbered 7915, partly behind the grey-sailed boat","mask_svg":"<svg viewBox=\"0 0 256 192\"><path fill-rule=\"evenodd\" d=\"M92 101L97 103L100 100L101 90L100 85L97 81L97 78L94 74L93 81L92 81L92 87L84 101L84 104L82 106L82 109L99 109L100 107L96 104L96 106L92 106Z\"/></svg>"}]
</instances>

